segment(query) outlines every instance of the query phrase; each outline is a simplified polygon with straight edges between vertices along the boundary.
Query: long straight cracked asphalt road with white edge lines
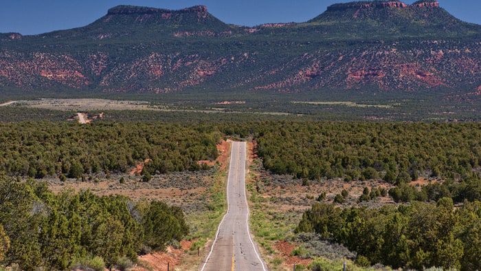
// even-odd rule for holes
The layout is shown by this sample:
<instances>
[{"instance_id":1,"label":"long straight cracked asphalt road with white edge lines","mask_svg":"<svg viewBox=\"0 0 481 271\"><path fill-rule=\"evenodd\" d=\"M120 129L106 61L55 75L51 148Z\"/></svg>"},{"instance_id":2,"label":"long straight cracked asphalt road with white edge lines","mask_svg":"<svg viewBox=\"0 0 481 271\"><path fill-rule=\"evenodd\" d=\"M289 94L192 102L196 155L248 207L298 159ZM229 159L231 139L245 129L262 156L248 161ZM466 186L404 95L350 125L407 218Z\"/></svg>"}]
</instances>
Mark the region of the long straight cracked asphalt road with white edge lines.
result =
<instances>
[{"instance_id":1,"label":"long straight cracked asphalt road with white edge lines","mask_svg":"<svg viewBox=\"0 0 481 271\"><path fill-rule=\"evenodd\" d=\"M232 142L227 178L227 213L201 271L267 270L249 233L249 207L245 195L245 142Z\"/></svg>"}]
</instances>

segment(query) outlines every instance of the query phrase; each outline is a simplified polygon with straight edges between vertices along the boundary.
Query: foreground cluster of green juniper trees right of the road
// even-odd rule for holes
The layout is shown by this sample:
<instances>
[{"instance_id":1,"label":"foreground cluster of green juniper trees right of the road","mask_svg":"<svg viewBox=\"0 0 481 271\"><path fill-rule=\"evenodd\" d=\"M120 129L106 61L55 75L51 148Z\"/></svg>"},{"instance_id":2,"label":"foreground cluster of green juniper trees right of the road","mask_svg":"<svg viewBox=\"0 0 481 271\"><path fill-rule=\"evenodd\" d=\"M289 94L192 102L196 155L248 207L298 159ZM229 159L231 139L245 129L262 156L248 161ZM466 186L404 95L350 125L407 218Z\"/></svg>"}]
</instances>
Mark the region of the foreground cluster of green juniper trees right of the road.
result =
<instances>
[{"instance_id":1,"label":"foreground cluster of green juniper trees right of the road","mask_svg":"<svg viewBox=\"0 0 481 271\"><path fill-rule=\"evenodd\" d=\"M342 243L367 265L481 270L481 202L454 208L451 198L437 204L379 209L338 208L316 203L302 216L297 232L317 232Z\"/></svg>"}]
</instances>

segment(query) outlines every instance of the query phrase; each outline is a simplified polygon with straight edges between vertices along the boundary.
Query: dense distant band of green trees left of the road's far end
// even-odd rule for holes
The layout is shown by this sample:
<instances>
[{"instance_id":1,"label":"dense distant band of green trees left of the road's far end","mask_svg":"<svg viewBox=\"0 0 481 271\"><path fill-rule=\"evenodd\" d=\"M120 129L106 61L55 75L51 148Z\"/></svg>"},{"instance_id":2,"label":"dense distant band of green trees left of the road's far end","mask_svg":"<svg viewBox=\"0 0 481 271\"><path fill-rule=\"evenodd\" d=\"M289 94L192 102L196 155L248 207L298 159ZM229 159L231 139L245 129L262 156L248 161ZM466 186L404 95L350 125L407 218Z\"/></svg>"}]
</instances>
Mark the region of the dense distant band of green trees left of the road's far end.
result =
<instances>
[{"instance_id":1,"label":"dense distant band of green trees left of the road's far end","mask_svg":"<svg viewBox=\"0 0 481 271\"><path fill-rule=\"evenodd\" d=\"M200 124L19 122L0 124L0 171L42 178L126 172L150 159L150 173L201 169L221 134Z\"/></svg>"}]
</instances>

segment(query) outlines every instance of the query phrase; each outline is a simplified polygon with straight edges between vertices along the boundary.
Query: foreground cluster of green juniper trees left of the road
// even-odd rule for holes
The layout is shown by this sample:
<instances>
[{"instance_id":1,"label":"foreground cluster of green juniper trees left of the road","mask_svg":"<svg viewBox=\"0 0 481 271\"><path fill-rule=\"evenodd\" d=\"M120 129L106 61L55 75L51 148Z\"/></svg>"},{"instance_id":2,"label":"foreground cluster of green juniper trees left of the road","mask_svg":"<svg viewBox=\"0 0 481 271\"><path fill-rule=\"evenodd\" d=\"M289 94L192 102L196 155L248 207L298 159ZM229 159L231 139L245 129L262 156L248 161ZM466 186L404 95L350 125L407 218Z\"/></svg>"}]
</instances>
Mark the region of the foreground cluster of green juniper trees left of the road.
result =
<instances>
[{"instance_id":1,"label":"foreground cluster of green juniper trees left of the road","mask_svg":"<svg viewBox=\"0 0 481 271\"><path fill-rule=\"evenodd\" d=\"M55 195L45 184L0 176L0 266L66 270L85 259L111 267L162 250L188 226L180 208L88 191Z\"/></svg>"}]
</instances>

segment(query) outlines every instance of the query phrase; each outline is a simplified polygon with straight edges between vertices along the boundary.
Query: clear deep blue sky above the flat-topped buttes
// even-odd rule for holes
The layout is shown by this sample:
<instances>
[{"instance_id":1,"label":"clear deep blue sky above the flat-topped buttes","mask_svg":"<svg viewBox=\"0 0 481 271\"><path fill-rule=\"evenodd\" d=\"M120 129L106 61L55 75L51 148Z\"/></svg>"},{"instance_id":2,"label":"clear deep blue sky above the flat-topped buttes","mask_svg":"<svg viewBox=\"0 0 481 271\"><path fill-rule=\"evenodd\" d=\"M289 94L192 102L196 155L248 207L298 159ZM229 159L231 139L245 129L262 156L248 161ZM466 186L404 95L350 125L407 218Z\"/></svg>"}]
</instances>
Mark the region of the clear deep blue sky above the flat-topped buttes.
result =
<instances>
[{"instance_id":1,"label":"clear deep blue sky above the flat-topped buttes","mask_svg":"<svg viewBox=\"0 0 481 271\"><path fill-rule=\"evenodd\" d=\"M76 28L102 17L113 6L128 4L179 9L208 6L225 23L302 22L343 0L1 0L0 32L40 34ZM414 0L405 1L412 3ZM481 0L440 0L441 6L463 21L481 24Z\"/></svg>"}]
</instances>

